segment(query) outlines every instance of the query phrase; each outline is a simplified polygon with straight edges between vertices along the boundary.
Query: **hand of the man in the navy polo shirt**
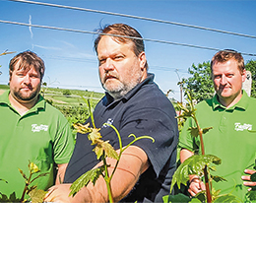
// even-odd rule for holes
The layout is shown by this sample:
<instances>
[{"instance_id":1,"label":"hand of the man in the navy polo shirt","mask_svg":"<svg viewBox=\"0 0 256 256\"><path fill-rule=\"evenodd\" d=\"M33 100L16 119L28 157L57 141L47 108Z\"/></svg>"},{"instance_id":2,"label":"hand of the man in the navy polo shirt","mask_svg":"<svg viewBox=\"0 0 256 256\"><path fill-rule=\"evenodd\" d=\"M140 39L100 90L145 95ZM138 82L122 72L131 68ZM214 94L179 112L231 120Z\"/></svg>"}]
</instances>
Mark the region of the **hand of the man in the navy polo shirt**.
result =
<instances>
[{"instance_id":1,"label":"hand of the man in the navy polo shirt","mask_svg":"<svg viewBox=\"0 0 256 256\"><path fill-rule=\"evenodd\" d=\"M60 184L50 187L44 197L44 202L76 203L76 199L69 196L70 186L71 184Z\"/></svg>"}]
</instances>

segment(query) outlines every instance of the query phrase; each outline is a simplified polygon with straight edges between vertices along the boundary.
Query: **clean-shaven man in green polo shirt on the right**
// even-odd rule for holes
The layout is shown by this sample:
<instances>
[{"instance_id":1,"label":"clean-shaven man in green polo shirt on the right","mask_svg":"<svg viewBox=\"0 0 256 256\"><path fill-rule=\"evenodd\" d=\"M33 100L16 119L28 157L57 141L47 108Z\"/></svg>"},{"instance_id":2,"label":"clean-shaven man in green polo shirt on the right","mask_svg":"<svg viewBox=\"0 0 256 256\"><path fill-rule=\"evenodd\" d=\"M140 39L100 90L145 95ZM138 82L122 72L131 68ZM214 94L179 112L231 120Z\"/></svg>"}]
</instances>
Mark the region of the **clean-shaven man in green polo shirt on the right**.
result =
<instances>
[{"instance_id":1,"label":"clean-shaven man in green polo shirt on the right","mask_svg":"<svg viewBox=\"0 0 256 256\"><path fill-rule=\"evenodd\" d=\"M205 154L219 157L222 163L217 166L216 175L226 179L213 182L213 187L222 194L233 194L245 202L248 187L255 186L250 175L256 160L256 99L242 91L246 79L244 61L240 53L230 50L218 52L211 62L212 77L216 95L196 106L196 117L200 127L213 127L203 135ZM183 162L201 153L199 138L193 138L188 131L195 127L188 119L180 135L180 160ZM245 172L245 173L244 173ZM204 183L196 176L190 177L189 193L194 196L204 190Z\"/></svg>"}]
</instances>

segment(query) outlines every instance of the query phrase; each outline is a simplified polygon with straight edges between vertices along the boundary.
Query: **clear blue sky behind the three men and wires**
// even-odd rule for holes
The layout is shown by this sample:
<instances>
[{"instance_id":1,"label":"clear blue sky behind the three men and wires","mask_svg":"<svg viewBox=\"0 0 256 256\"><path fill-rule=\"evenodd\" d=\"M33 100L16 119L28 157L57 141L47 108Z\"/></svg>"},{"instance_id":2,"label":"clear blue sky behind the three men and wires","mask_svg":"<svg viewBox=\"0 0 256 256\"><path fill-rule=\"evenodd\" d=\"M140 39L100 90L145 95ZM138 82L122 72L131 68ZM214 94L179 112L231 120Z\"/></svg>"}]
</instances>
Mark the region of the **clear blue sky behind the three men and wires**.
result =
<instances>
[{"instance_id":1,"label":"clear blue sky behind the three men and wires","mask_svg":"<svg viewBox=\"0 0 256 256\"><path fill-rule=\"evenodd\" d=\"M256 35L256 1L161 1L161 0L37 0L113 13L129 14L182 24L196 25L228 32ZM231 48L256 54L256 39L219 32L206 32L173 25L140 21L131 18L38 6L0 0L0 20L95 31L100 25L125 23L137 29L143 37L194 44L218 49ZM96 35L58 32L0 23L0 53L9 50L32 50L45 62L44 82L51 87L103 92L97 75ZM146 41L150 72L166 93L179 99L177 82L189 76L192 63L208 61L215 51ZM0 84L7 84L8 65L15 54L0 56ZM256 57L245 56L245 61ZM177 72L176 72L177 70ZM177 74L178 73L178 74Z\"/></svg>"}]
</instances>

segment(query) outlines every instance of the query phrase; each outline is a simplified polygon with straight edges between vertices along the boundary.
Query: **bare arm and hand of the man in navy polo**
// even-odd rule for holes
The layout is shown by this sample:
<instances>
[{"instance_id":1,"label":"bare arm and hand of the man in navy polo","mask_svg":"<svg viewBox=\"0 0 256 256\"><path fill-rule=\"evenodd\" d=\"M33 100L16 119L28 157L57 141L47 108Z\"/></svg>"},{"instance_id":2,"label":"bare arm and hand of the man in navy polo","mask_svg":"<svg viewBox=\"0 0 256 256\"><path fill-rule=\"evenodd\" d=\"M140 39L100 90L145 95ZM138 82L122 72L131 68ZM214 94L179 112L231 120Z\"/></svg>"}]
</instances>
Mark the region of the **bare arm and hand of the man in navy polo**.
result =
<instances>
[{"instance_id":1,"label":"bare arm and hand of the man in navy polo","mask_svg":"<svg viewBox=\"0 0 256 256\"><path fill-rule=\"evenodd\" d=\"M117 151L118 152L118 151ZM116 160L107 159L108 176L111 175ZM99 162L96 166L101 166L103 162ZM136 147L131 146L124 151L118 163L118 167L111 179L110 187L114 202L124 198L135 186L140 175L149 167L148 156L146 153ZM45 196L46 202L108 202L107 187L104 178L100 175L94 185L92 182L87 187L82 188L74 197L69 197L71 184L60 184L49 189Z\"/></svg>"}]
</instances>

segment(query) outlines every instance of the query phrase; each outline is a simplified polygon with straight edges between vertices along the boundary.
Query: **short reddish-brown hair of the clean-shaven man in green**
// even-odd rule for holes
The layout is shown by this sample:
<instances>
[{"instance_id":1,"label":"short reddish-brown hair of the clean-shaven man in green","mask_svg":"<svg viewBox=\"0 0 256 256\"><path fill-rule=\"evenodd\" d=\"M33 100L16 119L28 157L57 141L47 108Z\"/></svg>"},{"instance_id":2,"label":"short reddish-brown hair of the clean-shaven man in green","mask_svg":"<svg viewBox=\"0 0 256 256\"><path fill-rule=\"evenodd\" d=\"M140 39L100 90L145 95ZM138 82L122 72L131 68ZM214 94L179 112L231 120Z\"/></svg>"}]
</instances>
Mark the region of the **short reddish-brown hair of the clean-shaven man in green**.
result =
<instances>
[{"instance_id":1,"label":"short reddish-brown hair of the clean-shaven man in green","mask_svg":"<svg viewBox=\"0 0 256 256\"><path fill-rule=\"evenodd\" d=\"M226 62L230 59L234 59L237 61L238 69L239 69L240 73L242 74L244 71L244 68L245 68L243 57L242 57L241 53L239 53L235 50L230 50L230 49L221 50L215 54L215 56L212 58L212 61L211 61L212 72L213 72L214 62Z\"/></svg>"}]
</instances>

